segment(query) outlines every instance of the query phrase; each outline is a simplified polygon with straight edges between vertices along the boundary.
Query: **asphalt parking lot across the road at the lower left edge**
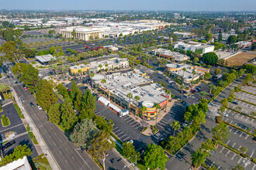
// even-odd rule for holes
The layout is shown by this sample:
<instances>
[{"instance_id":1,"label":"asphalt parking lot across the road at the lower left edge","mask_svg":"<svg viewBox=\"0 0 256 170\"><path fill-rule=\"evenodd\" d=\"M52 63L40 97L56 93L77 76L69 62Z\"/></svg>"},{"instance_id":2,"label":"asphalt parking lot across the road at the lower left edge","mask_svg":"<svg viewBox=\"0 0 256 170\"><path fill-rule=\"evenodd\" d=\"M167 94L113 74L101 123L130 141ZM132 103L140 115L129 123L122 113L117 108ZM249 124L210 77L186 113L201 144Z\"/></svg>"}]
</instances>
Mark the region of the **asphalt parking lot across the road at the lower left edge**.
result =
<instances>
[{"instance_id":1,"label":"asphalt parking lot across the road at the lower left edge","mask_svg":"<svg viewBox=\"0 0 256 170\"><path fill-rule=\"evenodd\" d=\"M29 134L27 134L26 128L22 124L22 120L19 117L19 114L17 113L15 107L12 103L5 105L2 107L3 112L0 114L2 117L2 114L5 114L5 116L9 117L10 125L7 127L3 127L2 124L0 126L0 134L1 134L1 141L16 141L16 143L9 148L5 149L3 151L3 155L9 155L12 153L14 148L16 148L18 145L27 145L31 151L32 154L30 155L30 158L34 158L38 156L38 153L36 151L35 146L33 145L33 142L29 138ZM14 133L7 137L5 133ZM4 144L5 145L5 144ZM4 146L3 145L3 146Z\"/></svg>"}]
</instances>

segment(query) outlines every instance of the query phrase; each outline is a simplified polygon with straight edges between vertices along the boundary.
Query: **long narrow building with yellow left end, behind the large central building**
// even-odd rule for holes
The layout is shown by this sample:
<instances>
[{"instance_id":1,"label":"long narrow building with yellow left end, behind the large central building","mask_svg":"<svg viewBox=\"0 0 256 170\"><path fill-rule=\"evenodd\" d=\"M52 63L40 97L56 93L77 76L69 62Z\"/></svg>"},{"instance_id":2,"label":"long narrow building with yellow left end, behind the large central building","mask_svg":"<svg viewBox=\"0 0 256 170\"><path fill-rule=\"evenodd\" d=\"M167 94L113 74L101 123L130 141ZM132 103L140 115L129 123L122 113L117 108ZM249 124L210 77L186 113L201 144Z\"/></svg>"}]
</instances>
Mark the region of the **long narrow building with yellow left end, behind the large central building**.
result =
<instances>
[{"instance_id":1,"label":"long narrow building with yellow left end, behind the large central building","mask_svg":"<svg viewBox=\"0 0 256 170\"><path fill-rule=\"evenodd\" d=\"M94 61L88 64L80 64L78 66L71 66L71 75L85 74L85 73L97 73L99 70L115 70L129 68L129 59L111 58L104 59L102 61Z\"/></svg>"}]
</instances>

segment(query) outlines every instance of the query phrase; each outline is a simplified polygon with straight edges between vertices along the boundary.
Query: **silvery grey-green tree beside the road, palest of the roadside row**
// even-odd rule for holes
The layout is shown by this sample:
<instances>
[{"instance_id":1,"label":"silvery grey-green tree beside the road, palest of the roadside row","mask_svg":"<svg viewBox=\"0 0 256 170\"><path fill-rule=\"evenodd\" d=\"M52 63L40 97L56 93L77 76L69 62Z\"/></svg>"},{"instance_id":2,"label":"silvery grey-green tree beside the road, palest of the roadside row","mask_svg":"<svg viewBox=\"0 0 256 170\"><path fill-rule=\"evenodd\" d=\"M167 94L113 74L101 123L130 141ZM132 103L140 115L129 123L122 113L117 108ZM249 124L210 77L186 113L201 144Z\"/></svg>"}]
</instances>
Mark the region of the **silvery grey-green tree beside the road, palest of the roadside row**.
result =
<instances>
[{"instance_id":1,"label":"silvery grey-green tree beside the road, palest of the roadside row","mask_svg":"<svg viewBox=\"0 0 256 170\"><path fill-rule=\"evenodd\" d=\"M85 119L75 125L70 138L76 147L91 148L91 141L98 131L92 119Z\"/></svg>"}]
</instances>

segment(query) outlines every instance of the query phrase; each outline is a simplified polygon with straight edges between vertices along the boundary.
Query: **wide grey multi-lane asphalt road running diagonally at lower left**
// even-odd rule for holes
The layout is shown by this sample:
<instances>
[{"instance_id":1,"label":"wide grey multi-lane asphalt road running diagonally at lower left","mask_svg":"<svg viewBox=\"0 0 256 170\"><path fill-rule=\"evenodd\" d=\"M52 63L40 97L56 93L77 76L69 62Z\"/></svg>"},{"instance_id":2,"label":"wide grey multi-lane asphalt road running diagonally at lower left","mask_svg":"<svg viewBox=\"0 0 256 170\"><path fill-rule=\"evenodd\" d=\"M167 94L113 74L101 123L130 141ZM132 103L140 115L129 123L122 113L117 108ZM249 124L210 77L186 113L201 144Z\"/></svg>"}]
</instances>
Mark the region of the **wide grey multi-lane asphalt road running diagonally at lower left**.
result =
<instances>
[{"instance_id":1,"label":"wide grey multi-lane asphalt road running diagonally at lower left","mask_svg":"<svg viewBox=\"0 0 256 170\"><path fill-rule=\"evenodd\" d=\"M46 112L38 110L36 100L28 90L23 90L21 84L14 86L14 89L19 97L24 97L26 100L22 103L23 107L32 118L33 123L36 124L43 140L61 169L99 169L85 151L75 148L61 129L47 121ZM35 106L31 107L30 102L33 102Z\"/></svg>"}]
</instances>

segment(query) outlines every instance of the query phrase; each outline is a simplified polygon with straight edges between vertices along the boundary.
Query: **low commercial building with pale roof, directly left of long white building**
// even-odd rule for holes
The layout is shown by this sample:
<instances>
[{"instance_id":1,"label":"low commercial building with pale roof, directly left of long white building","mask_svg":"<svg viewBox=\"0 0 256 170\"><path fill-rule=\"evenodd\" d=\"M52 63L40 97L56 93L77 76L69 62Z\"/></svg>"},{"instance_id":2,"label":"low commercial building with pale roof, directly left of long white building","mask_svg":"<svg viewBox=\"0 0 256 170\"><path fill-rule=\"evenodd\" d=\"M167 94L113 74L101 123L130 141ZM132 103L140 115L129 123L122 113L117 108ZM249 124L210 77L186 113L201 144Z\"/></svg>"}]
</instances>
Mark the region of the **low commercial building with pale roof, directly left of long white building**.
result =
<instances>
[{"instance_id":1,"label":"low commercial building with pale roof, directly left of long white building","mask_svg":"<svg viewBox=\"0 0 256 170\"><path fill-rule=\"evenodd\" d=\"M171 52L169 49L155 49L153 51L156 56L175 59L176 62L184 62L189 59L189 56L177 52Z\"/></svg>"}]
</instances>

